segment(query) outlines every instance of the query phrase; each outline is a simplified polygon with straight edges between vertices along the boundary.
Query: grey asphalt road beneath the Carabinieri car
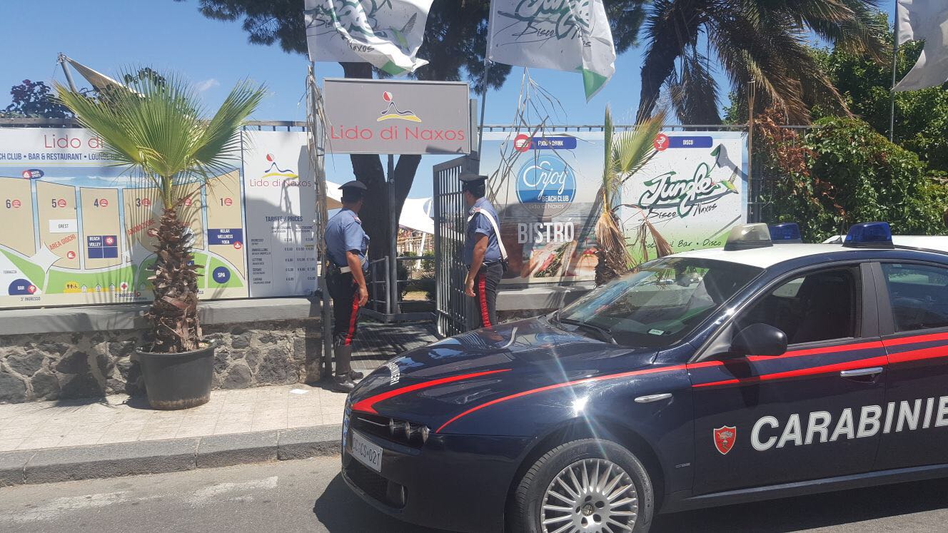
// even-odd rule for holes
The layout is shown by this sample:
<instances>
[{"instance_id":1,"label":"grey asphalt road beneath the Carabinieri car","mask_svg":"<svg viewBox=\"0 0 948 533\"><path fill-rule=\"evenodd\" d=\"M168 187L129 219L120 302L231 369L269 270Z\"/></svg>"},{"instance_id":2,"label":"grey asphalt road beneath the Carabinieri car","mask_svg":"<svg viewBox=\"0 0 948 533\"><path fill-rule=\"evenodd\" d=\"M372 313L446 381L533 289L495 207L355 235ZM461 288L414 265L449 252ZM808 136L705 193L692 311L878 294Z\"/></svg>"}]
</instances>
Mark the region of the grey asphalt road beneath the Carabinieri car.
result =
<instances>
[{"instance_id":1,"label":"grey asphalt road beneath the Carabinieri car","mask_svg":"<svg viewBox=\"0 0 948 533\"><path fill-rule=\"evenodd\" d=\"M0 531L439 533L363 504L337 458L0 488ZM948 480L660 516L657 532L945 531Z\"/></svg>"}]
</instances>

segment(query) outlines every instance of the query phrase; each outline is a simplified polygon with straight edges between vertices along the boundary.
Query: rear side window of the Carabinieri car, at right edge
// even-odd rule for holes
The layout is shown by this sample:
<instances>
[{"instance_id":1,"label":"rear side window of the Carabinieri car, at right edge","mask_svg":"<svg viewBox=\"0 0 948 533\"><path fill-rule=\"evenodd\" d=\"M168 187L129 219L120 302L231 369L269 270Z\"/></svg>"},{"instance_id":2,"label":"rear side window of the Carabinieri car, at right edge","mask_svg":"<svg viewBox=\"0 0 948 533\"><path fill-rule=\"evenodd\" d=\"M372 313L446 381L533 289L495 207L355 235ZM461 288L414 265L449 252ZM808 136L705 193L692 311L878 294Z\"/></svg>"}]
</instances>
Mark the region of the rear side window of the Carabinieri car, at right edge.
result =
<instances>
[{"instance_id":1,"label":"rear side window of the Carabinieri car, at right edge","mask_svg":"<svg viewBox=\"0 0 948 533\"><path fill-rule=\"evenodd\" d=\"M895 330L948 327L948 269L883 264Z\"/></svg>"}]
</instances>

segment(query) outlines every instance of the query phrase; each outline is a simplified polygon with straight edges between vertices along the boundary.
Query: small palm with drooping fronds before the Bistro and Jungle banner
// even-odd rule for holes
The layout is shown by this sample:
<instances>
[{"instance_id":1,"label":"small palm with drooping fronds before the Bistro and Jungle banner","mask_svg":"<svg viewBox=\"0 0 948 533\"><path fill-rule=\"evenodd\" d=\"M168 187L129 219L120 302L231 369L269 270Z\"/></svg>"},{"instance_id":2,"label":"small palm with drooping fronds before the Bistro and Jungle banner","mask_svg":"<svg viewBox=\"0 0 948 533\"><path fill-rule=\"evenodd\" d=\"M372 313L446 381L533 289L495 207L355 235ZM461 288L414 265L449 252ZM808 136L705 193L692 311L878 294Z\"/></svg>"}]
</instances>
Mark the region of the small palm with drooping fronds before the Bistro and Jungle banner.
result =
<instances>
[{"instance_id":1,"label":"small palm with drooping fronds before the Bistro and Jungle banner","mask_svg":"<svg viewBox=\"0 0 948 533\"><path fill-rule=\"evenodd\" d=\"M612 278L629 271L632 266L632 257L626 246L626 234L619 220L616 210L621 206L619 193L623 184L635 173L642 170L648 161L656 154L652 144L655 137L662 131L665 123L665 112L661 111L654 117L645 119L632 131L618 132L612 123L612 113L606 107L605 164L602 171L602 186L597 200L601 207L599 218L595 224L595 238L599 249L596 255L598 263L595 267L595 283L602 285ZM656 241L659 257L671 252L662 236L648 224L647 219L639 230L640 240L645 243L643 231L649 231Z\"/></svg>"}]
</instances>

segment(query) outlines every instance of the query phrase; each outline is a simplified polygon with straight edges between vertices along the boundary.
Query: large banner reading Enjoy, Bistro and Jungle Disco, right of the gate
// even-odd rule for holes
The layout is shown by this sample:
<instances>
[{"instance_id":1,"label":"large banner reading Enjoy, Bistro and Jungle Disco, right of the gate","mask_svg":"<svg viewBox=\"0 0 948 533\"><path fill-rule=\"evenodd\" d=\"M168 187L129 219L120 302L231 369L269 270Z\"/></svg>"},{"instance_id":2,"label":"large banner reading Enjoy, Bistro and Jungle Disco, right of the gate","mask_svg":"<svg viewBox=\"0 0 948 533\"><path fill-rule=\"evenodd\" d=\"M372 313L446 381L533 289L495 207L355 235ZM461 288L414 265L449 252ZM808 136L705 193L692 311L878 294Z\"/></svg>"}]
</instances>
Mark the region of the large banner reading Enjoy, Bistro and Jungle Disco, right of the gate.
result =
<instances>
[{"instance_id":1,"label":"large banner reading Enjoy, Bistro and Jungle Disco, right of the gate","mask_svg":"<svg viewBox=\"0 0 948 533\"><path fill-rule=\"evenodd\" d=\"M655 156L625 182L616 211L633 258L655 258L656 234L675 252L720 247L747 218L746 135L667 131L655 143ZM481 172L491 176L510 255L501 283L595 278L603 161L601 132L484 133ZM647 255L638 240L646 220Z\"/></svg>"}]
</instances>

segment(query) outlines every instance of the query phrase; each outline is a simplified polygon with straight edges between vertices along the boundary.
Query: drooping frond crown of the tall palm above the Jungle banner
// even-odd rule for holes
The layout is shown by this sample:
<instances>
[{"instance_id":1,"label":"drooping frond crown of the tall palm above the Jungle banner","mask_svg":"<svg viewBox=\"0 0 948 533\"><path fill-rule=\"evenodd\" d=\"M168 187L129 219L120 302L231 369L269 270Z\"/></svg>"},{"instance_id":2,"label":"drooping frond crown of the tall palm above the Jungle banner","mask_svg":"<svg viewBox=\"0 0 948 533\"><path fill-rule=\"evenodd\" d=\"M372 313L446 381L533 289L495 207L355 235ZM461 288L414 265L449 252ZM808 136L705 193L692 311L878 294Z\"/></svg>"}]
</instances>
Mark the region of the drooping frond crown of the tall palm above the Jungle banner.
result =
<instances>
[{"instance_id":1,"label":"drooping frond crown of the tall palm above the Jungle banner","mask_svg":"<svg viewBox=\"0 0 948 533\"><path fill-rule=\"evenodd\" d=\"M807 41L816 36L881 60L887 28L877 17L878 2L653 0L645 25L638 116L651 113L667 83L683 123L720 123L719 87L712 76L716 66L727 74L738 99L744 100L749 82L757 82L760 104L777 106L792 123L809 121L817 102L848 113Z\"/></svg>"}]
</instances>

